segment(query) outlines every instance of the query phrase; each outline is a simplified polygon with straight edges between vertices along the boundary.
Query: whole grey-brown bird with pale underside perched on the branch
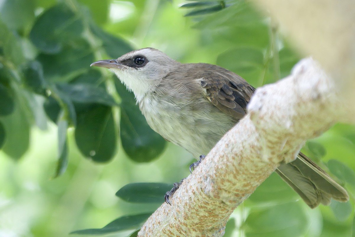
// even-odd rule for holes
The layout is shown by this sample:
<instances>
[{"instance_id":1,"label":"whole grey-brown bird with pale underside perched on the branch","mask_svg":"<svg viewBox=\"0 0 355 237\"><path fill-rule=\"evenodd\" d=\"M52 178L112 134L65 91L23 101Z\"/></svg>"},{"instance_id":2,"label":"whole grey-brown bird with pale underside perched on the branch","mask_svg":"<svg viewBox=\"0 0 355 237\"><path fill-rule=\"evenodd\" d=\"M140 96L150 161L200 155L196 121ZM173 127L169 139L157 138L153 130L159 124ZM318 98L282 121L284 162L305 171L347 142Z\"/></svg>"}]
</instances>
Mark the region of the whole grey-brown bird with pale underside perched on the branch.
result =
<instances>
[{"instance_id":1,"label":"whole grey-brown bird with pale underside perched on the branch","mask_svg":"<svg viewBox=\"0 0 355 237\"><path fill-rule=\"evenodd\" d=\"M154 48L133 50L91 66L114 72L134 93L149 126L196 158L207 154L245 116L256 90L220 66L180 63ZM301 152L275 172L310 208L329 205L331 199L349 200L346 190Z\"/></svg>"}]
</instances>

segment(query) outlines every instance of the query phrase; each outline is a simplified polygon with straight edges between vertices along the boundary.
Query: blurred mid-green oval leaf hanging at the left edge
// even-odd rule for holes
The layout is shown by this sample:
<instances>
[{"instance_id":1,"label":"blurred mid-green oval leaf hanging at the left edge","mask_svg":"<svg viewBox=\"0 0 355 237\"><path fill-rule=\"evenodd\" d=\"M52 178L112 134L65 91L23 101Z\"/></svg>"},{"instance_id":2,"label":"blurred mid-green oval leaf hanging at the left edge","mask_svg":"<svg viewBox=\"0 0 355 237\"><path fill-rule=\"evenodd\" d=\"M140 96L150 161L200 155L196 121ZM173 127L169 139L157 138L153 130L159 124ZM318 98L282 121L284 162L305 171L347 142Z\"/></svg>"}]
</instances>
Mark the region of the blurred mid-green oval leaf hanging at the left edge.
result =
<instances>
[{"instance_id":1,"label":"blurred mid-green oval leaf hanging at the left edge","mask_svg":"<svg viewBox=\"0 0 355 237\"><path fill-rule=\"evenodd\" d=\"M15 109L10 115L0 117L5 126L6 141L2 150L15 160L27 151L29 146L30 126L26 114L16 103Z\"/></svg>"}]
</instances>

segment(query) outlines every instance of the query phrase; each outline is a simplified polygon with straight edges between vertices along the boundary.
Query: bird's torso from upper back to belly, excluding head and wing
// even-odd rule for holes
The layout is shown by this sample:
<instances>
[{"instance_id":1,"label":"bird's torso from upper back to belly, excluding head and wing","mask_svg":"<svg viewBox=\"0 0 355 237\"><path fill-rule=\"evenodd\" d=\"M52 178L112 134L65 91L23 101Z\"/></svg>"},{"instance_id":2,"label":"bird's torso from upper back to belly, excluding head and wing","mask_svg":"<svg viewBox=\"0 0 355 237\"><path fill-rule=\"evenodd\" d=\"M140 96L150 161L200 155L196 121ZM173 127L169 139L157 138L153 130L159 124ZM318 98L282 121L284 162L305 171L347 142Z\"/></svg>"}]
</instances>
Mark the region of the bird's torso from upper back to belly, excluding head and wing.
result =
<instances>
[{"instance_id":1,"label":"bird's torso from upper back to belly, excluding head and wing","mask_svg":"<svg viewBox=\"0 0 355 237\"><path fill-rule=\"evenodd\" d=\"M183 73L179 69L172 70L139 105L154 131L197 158L207 154L239 119L225 114L205 97L201 81L219 67L181 65L184 65ZM202 73L196 73L198 65L204 67L198 70ZM180 73L176 73L178 71Z\"/></svg>"}]
</instances>

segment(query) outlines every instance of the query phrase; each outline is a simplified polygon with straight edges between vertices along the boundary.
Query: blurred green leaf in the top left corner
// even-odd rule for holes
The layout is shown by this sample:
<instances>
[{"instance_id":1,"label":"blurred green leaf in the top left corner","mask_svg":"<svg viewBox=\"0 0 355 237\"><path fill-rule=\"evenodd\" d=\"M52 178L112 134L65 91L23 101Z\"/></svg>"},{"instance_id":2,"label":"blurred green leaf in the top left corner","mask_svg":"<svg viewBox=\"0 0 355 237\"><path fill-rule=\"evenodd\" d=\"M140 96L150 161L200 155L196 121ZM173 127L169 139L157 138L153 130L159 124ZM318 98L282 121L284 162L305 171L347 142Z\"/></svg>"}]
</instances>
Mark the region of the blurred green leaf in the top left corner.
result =
<instances>
[{"instance_id":1,"label":"blurred green leaf in the top left corner","mask_svg":"<svg viewBox=\"0 0 355 237\"><path fill-rule=\"evenodd\" d=\"M0 5L0 17L10 29L27 27L34 20L33 1L5 0Z\"/></svg>"}]
</instances>

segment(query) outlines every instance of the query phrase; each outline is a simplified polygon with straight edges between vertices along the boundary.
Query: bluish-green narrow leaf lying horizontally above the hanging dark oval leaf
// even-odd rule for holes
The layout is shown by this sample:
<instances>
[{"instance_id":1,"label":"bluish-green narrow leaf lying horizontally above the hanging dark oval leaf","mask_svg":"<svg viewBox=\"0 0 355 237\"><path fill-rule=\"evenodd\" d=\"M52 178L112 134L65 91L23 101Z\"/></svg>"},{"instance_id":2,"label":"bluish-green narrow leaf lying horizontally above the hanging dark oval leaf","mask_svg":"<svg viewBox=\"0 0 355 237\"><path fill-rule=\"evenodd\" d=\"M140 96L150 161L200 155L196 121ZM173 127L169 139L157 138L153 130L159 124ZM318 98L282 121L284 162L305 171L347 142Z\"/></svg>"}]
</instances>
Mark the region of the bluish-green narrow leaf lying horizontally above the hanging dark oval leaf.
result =
<instances>
[{"instance_id":1,"label":"bluish-green narrow leaf lying horizontally above the hanging dark oval leaf","mask_svg":"<svg viewBox=\"0 0 355 237\"><path fill-rule=\"evenodd\" d=\"M97 103L108 106L117 105L114 99L102 87L91 84L62 84L57 87L73 102Z\"/></svg>"}]
</instances>

